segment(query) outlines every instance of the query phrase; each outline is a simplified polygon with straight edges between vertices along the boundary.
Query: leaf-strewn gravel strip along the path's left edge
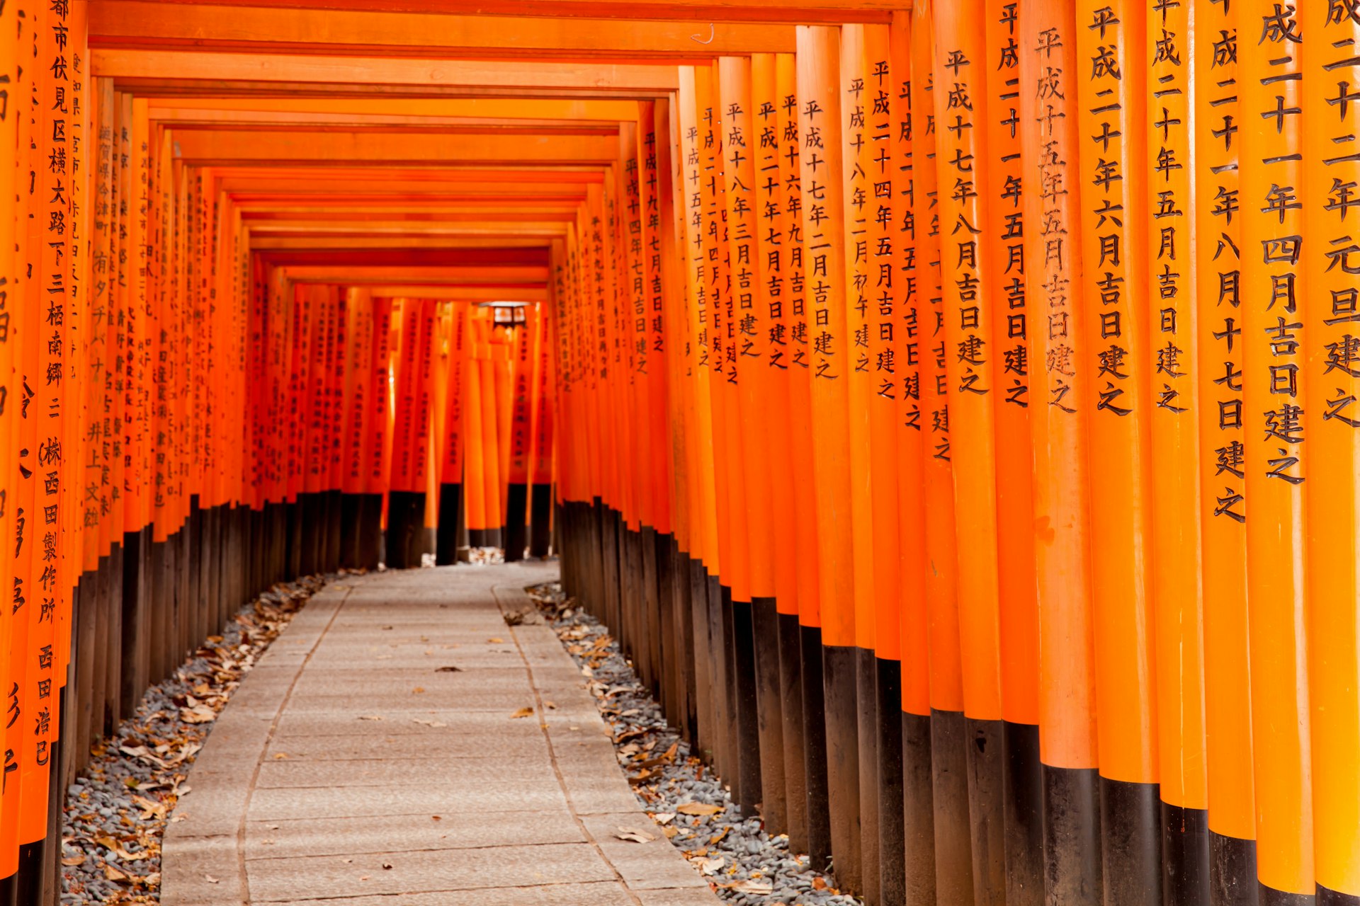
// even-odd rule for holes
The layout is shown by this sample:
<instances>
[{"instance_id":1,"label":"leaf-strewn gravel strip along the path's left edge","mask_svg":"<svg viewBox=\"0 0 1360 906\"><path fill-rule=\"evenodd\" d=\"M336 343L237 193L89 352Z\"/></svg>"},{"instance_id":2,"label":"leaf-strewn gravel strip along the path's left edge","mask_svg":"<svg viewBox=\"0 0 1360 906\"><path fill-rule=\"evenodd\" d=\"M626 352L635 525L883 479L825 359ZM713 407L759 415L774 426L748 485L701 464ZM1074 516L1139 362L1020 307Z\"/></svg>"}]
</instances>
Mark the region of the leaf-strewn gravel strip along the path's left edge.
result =
<instances>
[{"instance_id":1,"label":"leaf-strewn gravel strip along the path's left edge","mask_svg":"<svg viewBox=\"0 0 1360 906\"><path fill-rule=\"evenodd\" d=\"M231 693L325 583L306 576L242 606L222 634L146 691L112 739L91 747L86 774L67 791L63 906L160 902L160 841L170 812L192 792L189 766Z\"/></svg>"}]
</instances>

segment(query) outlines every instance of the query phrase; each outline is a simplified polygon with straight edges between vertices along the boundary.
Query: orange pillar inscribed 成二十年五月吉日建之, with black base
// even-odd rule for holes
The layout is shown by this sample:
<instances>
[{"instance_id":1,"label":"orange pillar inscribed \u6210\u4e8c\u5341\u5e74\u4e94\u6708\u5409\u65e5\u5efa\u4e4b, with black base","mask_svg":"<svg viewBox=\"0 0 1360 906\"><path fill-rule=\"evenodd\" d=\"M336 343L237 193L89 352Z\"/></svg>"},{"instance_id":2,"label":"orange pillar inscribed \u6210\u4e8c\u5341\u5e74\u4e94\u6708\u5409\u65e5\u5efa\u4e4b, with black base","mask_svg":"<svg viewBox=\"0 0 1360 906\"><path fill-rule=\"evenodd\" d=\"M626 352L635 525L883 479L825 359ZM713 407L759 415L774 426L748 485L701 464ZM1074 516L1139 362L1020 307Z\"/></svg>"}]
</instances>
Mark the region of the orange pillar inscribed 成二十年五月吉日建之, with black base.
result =
<instances>
[{"instance_id":1,"label":"orange pillar inscribed \u6210\u4e8c\u5341\u5e74\u4e94\u6708\u5409\u65e5\u5efa\u4e4b, with black base","mask_svg":"<svg viewBox=\"0 0 1360 906\"><path fill-rule=\"evenodd\" d=\"M1200 413L1195 374L1200 334L1194 291L1190 34L1187 7L1152 10L1142 58L1152 67L1142 105L1148 302L1142 315L1152 368L1148 395L1152 471L1153 652L1156 675L1163 902L1209 901L1210 858L1205 765L1204 602L1201 596ZM1133 56L1137 60L1137 53ZM1136 126L1138 128L1138 126ZM1202 246L1201 246L1202 247ZM1202 405L1202 402L1200 403Z\"/></svg>"}]
</instances>

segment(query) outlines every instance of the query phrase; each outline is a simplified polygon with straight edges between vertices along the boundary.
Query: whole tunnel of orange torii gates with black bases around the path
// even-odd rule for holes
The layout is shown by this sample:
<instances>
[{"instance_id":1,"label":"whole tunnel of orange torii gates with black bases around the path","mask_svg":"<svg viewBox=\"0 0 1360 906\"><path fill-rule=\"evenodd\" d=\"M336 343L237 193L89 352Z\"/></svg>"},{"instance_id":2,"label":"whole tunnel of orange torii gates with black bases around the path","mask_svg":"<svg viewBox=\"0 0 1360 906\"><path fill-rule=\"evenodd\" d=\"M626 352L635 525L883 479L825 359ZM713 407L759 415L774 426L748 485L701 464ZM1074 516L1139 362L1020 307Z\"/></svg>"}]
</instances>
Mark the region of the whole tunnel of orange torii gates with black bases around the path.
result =
<instances>
[{"instance_id":1,"label":"whole tunnel of orange torii gates with black bases around the path","mask_svg":"<svg viewBox=\"0 0 1360 906\"><path fill-rule=\"evenodd\" d=\"M7 902L384 531L868 903L1360 902L1360 4L902 7L0 3Z\"/></svg>"}]
</instances>

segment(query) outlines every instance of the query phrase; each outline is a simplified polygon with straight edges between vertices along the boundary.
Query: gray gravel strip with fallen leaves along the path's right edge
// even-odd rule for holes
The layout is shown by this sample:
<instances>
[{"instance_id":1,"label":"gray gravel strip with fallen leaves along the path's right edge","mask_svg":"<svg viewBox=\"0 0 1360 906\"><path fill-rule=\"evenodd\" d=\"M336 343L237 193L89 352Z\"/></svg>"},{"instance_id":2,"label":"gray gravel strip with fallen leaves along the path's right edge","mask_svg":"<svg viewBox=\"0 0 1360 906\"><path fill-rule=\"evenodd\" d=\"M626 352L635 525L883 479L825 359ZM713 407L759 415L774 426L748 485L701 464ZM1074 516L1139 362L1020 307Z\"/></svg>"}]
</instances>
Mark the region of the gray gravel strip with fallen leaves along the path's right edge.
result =
<instances>
[{"instance_id":1,"label":"gray gravel strip with fallen leaves along the path's right edge","mask_svg":"<svg viewBox=\"0 0 1360 906\"><path fill-rule=\"evenodd\" d=\"M690 751L638 681L619 644L594 617L562 594L560 583L528 590L588 678L609 725L619 765L642 808L717 894L743 906L858 906L806 854L771 837L758 815L743 815L717 774ZM692 814L713 812L713 814Z\"/></svg>"}]
</instances>

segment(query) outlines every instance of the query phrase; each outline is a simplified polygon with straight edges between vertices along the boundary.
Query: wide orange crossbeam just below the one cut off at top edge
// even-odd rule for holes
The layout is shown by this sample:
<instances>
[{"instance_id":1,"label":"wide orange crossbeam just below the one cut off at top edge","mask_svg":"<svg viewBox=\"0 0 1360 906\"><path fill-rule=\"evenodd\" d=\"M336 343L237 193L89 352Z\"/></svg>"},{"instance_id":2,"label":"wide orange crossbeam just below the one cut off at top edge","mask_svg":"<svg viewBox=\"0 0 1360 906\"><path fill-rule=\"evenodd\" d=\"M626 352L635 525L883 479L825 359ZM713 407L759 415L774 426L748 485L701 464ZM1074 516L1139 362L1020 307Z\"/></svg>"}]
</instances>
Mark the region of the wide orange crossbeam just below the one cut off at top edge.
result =
<instances>
[{"instance_id":1,"label":"wide orange crossbeam just below the one cut off at top edge","mask_svg":"<svg viewBox=\"0 0 1360 906\"><path fill-rule=\"evenodd\" d=\"M91 48L194 48L430 58L636 60L793 53L792 24L518 18L103 0L90 5Z\"/></svg>"}]
</instances>

